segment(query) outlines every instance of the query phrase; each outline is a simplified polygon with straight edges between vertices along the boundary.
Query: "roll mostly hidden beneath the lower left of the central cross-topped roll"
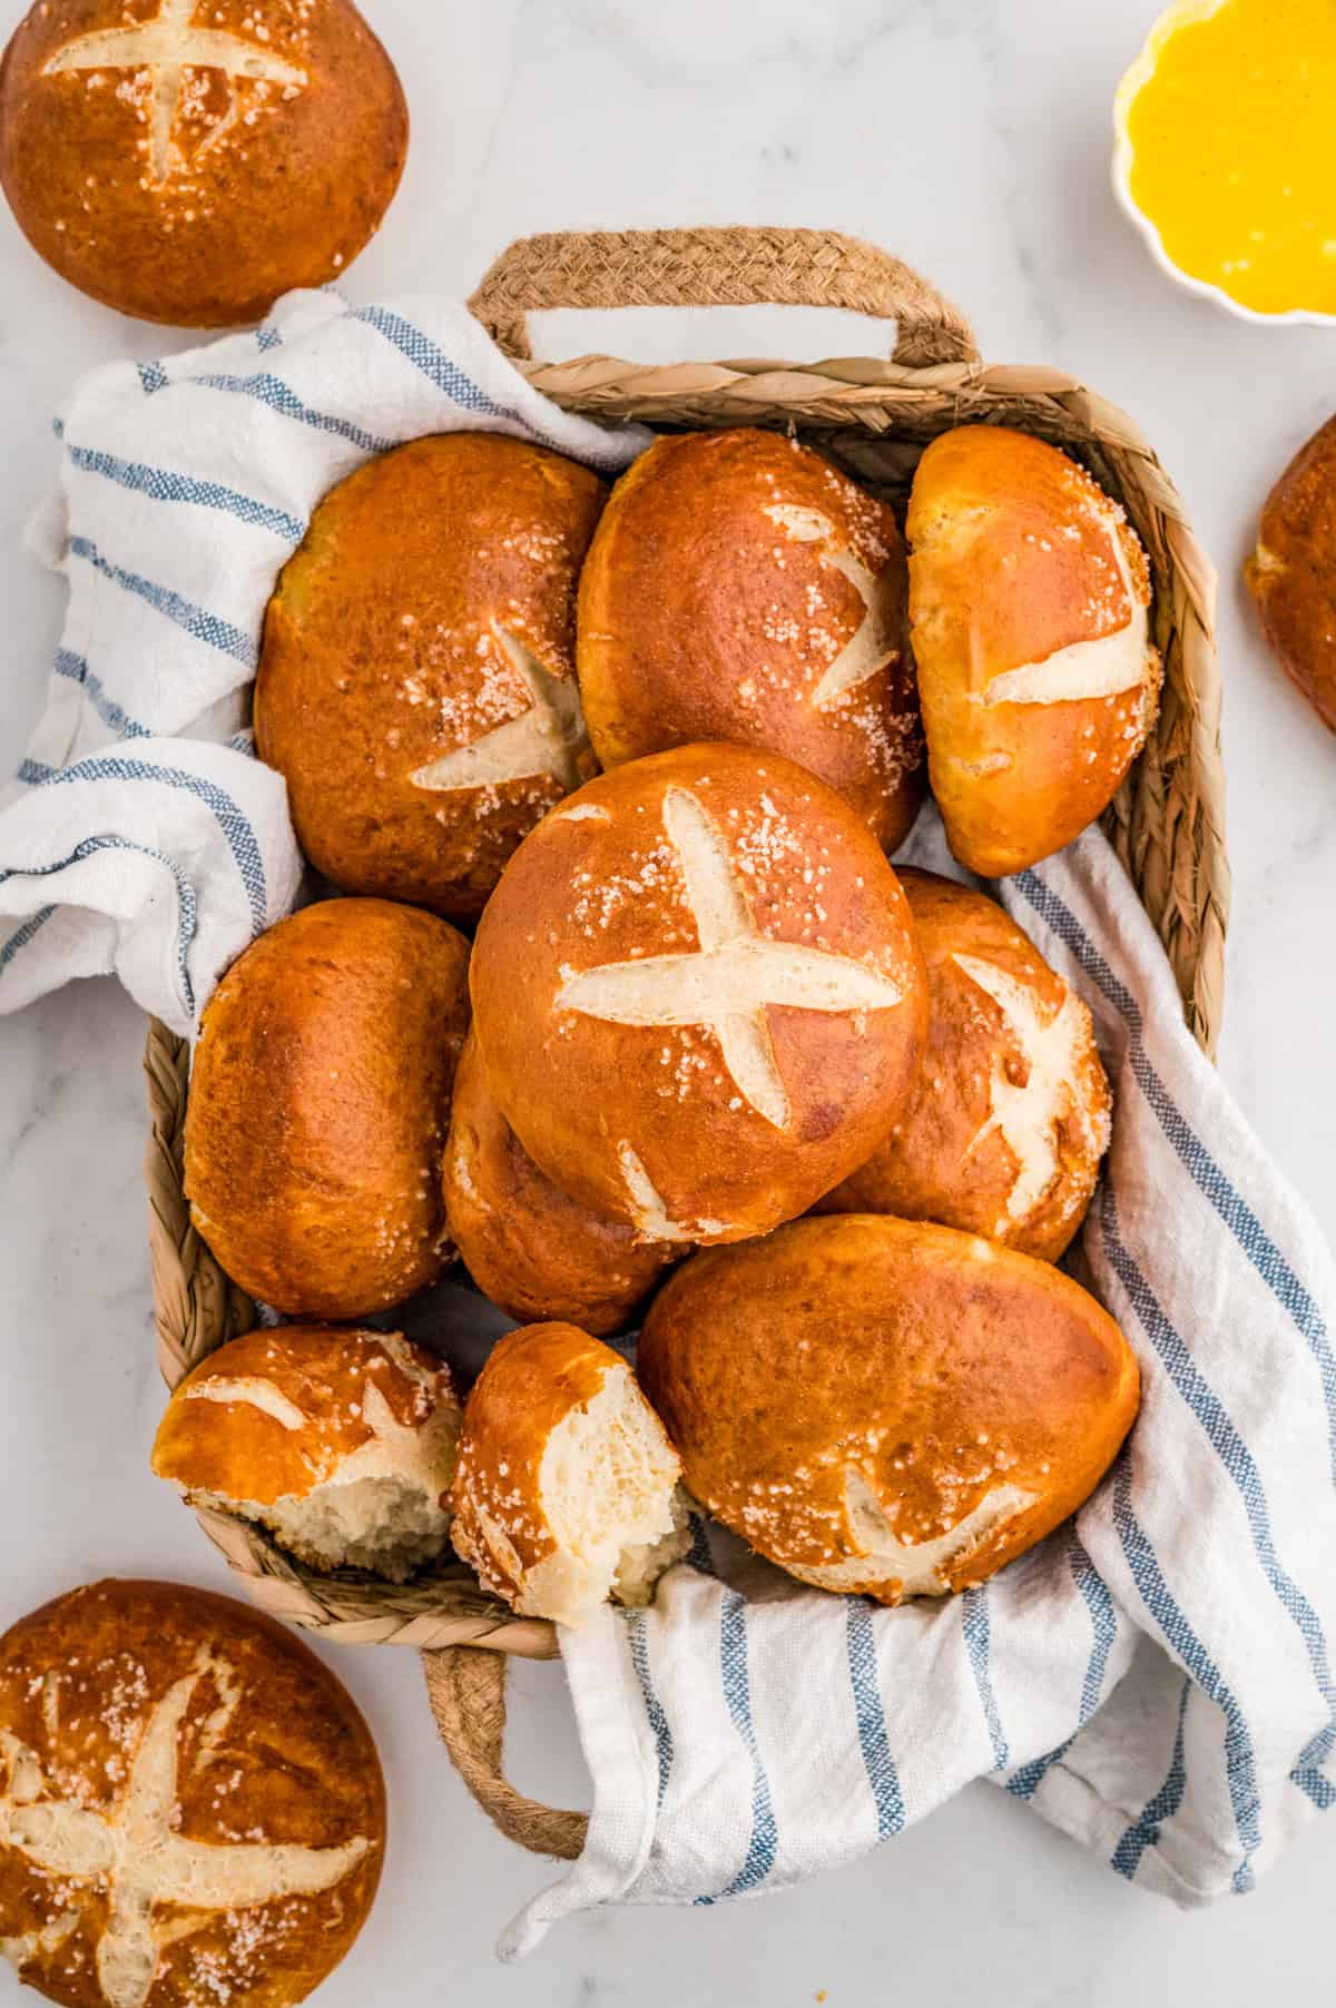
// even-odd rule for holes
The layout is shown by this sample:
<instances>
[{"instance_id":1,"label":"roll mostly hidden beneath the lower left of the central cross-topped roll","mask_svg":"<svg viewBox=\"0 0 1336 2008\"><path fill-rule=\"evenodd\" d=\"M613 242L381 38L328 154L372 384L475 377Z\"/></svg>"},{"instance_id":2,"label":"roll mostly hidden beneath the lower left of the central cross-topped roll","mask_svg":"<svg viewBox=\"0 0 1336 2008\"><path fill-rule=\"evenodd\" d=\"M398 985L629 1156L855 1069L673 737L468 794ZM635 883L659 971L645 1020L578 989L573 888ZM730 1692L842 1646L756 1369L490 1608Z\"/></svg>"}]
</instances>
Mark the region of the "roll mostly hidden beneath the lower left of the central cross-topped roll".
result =
<instances>
[{"instance_id":1,"label":"roll mostly hidden beneath the lower left of the central cross-topped roll","mask_svg":"<svg viewBox=\"0 0 1336 2008\"><path fill-rule=\"evenodd\" d=\"M496 1106L472 1034L454 1076L444 1181L460 1261L524 1325L565 1319L599 1335L625 1331L681 1253L591 1213L538 1171Z\"/></svg>"}]
</instances>

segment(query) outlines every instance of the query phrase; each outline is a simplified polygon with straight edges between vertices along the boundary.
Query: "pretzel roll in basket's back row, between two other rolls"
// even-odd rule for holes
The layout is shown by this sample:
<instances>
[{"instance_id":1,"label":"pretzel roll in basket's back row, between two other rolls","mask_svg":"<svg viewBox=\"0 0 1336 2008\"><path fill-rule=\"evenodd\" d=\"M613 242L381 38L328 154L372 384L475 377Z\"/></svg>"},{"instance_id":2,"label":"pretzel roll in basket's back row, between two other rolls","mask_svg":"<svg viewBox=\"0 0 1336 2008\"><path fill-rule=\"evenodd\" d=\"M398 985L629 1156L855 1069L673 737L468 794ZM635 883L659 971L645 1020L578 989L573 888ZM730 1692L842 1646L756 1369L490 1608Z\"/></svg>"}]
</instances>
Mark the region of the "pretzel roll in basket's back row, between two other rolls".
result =
<instances>
[{"instance_id":1,"label":"pretzel roll in basket's back row, between two other rolls","mask_svg":"<svg viewBox=\"0 0 1336 2008\"><path fill-rule=\"evenodd\" d=\"M697 739L784 753L894 849L922 799L904 546L884 502L755 428L657 440L581 576L605 767Z\"/></svg>"}]
</instances>

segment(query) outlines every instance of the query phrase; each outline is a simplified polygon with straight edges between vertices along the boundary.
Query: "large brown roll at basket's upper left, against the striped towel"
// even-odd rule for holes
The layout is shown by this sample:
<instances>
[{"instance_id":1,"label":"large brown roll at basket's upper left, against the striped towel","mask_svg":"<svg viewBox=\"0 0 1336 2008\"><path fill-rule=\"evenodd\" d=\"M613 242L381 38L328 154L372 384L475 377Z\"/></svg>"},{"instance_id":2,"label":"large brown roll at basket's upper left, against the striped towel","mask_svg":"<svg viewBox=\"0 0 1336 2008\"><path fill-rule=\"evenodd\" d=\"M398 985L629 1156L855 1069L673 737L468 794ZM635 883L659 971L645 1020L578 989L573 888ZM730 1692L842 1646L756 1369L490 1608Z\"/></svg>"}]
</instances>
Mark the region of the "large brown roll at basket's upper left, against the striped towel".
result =
<instances>
[{"instance_id":1,"label":"large brown roll at basket's upper left, against the striped towel","mask_svg":"<svg viewBox=\"0 0 1336 2008\"><path fill-rule=\"evenodd\" d=\"M255 745L336 886L468 920L595 771L575 582L601 506L573 460L456 432L315 510L269 602Z\"/></svg>"}]
</instances>

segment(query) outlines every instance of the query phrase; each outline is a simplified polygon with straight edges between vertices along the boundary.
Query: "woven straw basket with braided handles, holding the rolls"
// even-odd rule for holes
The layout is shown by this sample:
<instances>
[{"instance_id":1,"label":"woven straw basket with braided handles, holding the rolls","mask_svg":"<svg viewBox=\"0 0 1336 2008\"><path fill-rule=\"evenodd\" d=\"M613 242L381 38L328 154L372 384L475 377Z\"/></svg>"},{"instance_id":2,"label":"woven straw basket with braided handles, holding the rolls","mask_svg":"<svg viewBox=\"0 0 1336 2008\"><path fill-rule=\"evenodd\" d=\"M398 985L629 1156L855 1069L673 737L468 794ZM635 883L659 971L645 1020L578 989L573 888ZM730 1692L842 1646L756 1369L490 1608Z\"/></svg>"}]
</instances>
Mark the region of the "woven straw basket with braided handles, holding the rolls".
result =
<instances>
[{"instance_id":1,"label":"woven straw basket with braided handles, holding the rolls","mask_svg":"<svg viewBox=\"0 0 1336 2008\"><path fill-rule=\"evenodd\" d=\"M524 315L540 307L757 301L852 307L894 319L892 357L639 367L587 355L536 363L524 333ZM1131 420L1057 369L986 367L968 323L934 287L872 245L826 231L530 237L502 253L470 305L530 384L571 412L659 428L786 428L898 504L928 440L964 422L994 420L1039 434L1091 468L1123 502L1149 552L1155 643L1165 663L1159 723L1105 825L1165 944L1187 1024L1211 1052L1230 904L1213 572ZM255 1305L223 1275L189 1221L181 1191L185 1042L153 1024L145 1066L155 1313L163 1377L175 1388L199 1359L253 1325ZM581 1851L583 1815L532 1805L500 1775L500 1655L554 1655L550 1624L512 1616L460 1564L442 1564L404 1588L354 1572L317 1576L253 1528L211 1512L199 1518L273 1616L348 1645L422 1649L442 1739L492 1819L536 1851ZM476 1647L492 1651L470 1651Z\"/></svg>"}]
</instances>

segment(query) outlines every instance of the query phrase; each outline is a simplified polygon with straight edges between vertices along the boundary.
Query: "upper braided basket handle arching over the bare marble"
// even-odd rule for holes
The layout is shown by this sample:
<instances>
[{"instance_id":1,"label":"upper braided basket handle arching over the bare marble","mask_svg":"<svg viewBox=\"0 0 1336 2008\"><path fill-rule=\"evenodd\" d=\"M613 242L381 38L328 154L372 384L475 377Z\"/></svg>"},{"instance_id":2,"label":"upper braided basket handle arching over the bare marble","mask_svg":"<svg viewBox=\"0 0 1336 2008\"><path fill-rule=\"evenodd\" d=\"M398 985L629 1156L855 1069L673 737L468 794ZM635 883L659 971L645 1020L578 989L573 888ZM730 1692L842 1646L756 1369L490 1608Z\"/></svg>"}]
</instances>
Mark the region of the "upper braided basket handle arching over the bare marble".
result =
<instances>
[{"instance_id":1,"label":"upper braided basket handle arching over the bare marble","mask_svg":"<svg viewBox=\"0 0 1336 2008\"><path fill-rule=\"evenodd\" d=\"M540 307L850 307L896 321L906 369L976 363L964 315L898 257L842 231L546 231L518 237L468 305L500 347L528 359Z\"/></svg>"}]
</instances>

